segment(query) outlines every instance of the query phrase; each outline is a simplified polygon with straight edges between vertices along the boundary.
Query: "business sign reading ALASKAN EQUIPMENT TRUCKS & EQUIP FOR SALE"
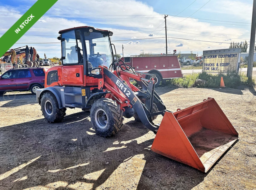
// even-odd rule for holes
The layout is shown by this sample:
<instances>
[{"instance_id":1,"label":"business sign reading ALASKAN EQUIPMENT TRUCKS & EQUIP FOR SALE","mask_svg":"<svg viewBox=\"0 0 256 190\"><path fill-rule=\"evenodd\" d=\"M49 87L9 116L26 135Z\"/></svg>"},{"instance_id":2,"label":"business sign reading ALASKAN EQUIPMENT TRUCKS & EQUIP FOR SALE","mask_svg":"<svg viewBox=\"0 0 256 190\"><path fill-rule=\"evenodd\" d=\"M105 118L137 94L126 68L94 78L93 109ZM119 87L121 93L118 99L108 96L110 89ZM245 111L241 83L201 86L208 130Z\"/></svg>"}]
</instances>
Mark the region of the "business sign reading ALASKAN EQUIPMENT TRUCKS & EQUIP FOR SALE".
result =
<instances>
[{"instance_id":1,"label":"business sign reading ALASKAN EQUIPMENT TRUCKS & EQUIP FOR SALE","mask_svg":"<svg viewBox=\"0 0 256 190\"><path fill-rule=\"evenodd\" d=\"M203 51L203 72L238 71L241 48Z\"/></svg>"}]
</instances>

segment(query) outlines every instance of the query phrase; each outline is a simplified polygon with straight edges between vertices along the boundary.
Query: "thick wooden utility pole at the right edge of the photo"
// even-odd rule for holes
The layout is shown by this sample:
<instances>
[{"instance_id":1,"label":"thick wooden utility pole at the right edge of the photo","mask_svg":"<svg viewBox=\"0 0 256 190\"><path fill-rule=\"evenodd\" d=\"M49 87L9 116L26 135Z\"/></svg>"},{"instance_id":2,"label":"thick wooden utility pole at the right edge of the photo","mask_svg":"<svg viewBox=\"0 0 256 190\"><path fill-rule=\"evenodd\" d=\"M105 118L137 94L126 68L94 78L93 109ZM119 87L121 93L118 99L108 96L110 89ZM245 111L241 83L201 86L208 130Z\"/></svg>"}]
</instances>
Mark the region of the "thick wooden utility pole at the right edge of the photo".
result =
<instances>
[{"instance_id":1,"label":"thick wooden utility pole at the right edge of the photo","mask_svg":"<svg viewBox=\"0 0 256 190\"><path fill-rule=\"evenodd\" d=\"M249 63L247 69L247 77L252 79L252 69L254 64L254 45L255 45L255 31L256 31L256 0L254 0L252 8L252 19L251 19L251 39L249 49Z\"/></svg>"}]
</instances>

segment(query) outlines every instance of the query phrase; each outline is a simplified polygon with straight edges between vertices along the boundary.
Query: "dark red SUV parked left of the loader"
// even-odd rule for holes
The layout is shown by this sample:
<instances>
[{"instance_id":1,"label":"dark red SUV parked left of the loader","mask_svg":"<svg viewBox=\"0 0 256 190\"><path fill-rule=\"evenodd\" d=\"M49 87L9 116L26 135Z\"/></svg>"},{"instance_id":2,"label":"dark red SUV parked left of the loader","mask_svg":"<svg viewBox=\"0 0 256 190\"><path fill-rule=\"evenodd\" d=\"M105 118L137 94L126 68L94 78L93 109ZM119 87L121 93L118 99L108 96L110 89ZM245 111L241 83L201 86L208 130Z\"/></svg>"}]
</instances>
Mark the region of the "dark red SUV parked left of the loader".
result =
<instances>
[{"instance_id":1,"label":"dark red SUV parked left of the loader","mask_svg":"<svg viewBox=\"0 0 256 190\"><path fill-rule=\"evenodd\" d=\"M40 67L11 69L0 76L0 94L5 91L28 91L44 88L45 70Z\"/></svg>"}]
</instances>

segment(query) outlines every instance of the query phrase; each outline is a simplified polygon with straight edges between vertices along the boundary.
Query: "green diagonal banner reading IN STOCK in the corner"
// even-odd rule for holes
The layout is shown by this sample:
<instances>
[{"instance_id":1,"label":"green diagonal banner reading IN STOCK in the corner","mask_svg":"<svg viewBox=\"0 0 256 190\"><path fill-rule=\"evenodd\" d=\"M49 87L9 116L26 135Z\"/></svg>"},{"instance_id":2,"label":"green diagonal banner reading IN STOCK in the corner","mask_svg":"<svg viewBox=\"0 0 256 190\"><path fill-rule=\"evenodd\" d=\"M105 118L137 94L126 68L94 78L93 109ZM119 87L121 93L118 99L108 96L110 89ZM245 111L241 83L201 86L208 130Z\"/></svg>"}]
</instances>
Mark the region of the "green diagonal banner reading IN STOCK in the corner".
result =
<instances>
[{"instance_id":1,"label":"green diagonal banner reading IN STOCK in the corner","mask_svg":"<svg viewBox=\"0 0 256 190\"><path fill-rule=\"evenodd\" d=\"M38 0L1 38L0 57L28 31L57 0Z\"/></svg>"}]
</instances>

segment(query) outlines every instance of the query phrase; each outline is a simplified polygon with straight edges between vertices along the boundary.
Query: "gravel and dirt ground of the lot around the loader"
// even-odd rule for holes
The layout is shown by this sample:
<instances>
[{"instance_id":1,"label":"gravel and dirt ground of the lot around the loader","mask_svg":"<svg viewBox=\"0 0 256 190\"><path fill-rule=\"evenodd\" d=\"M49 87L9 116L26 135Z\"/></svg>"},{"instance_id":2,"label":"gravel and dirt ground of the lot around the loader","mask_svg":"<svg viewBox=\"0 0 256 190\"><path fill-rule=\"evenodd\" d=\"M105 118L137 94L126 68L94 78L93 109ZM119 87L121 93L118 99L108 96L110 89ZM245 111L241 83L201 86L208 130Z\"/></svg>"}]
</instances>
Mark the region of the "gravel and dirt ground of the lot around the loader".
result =
<instances>
[{"instance_id":1,"label":"gravel and dirt ground of the lot around the loader","mask_svg":"<svg viewBox=\"0 0 256 190\"><path fill-rule=\"evenodd\" d=\"M0 97L0 189L256 189L255 89L157 92L170 111L214 97L239 133L208 173L152 152L155 135L133 118L124 120L115 137L102 138L92 130L88 112L68 109L61 123L49 124L36 96L16 93Z\"/></svg>"}]
</instances>

